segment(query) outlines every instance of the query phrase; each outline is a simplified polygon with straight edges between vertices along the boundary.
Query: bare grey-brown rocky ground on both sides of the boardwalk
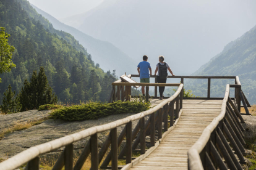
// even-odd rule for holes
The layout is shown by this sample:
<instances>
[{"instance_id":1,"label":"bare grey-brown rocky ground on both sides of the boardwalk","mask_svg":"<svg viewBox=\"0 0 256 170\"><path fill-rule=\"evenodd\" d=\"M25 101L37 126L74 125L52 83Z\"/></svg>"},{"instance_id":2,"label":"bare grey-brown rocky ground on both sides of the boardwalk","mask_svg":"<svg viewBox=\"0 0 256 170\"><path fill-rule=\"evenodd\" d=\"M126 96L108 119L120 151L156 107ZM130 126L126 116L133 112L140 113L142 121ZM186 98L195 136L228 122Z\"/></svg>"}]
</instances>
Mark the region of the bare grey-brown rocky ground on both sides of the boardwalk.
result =
<instances>
[{"instance_id":1,"label":"bare grey-brown rocky ground on both sides of the boardwalk","mask_svg":"<svg viewBox=\"0 0 256 170\"><path fill-rule=\"evenodd\" d=\"M250 108L250 112L254 113L253 106ZM38 110L30 110L24 111L22 113L14 113L10 115L0 115L0 132L4 131L4 129L15 126L15 124L26 121L35 121L37 119L43 119L49 116L48 110L38 111ZM49 142L50 140L58 139L60 137L67 136L69 134L82 131L83 129L87 129L92 126L98 126L101 124L110 123L117 119L126 118L127 116L132 115L132 113L120 114L120 115L111 115L105 118L100 118L96 120L88 120L88 121L62 121L55 119L48 119L41 124L36 126L32 126L28 129L22 131L15 131L11 134L7 134L4 136L2 140L0 140L0 160L11 157L23 150L30 148L35 145L43 144L45 142ZM252 114L254 115L254 114ZM255 166L256 168L256 116L243 116L245 123L243 124L245 132L245 141L247 144L250 144L247 150L247 164L243 165L244 169L252 169ZM133 127L137 124L137 121L133 122ZM117 132L120 133L124 126L118 127ZM103 132L98 134L98 143L99 147L102 146L103 142L107 137L109 132ZM86 145L88 141L87 139L80 140L74 144L75 153L81 153L83 147ZM60 148L54 152L48 153L46 155L41 156L43 160L49 161L49 158L58 158L59 154L64 148ZM255 160L255 163L254 163ZM56 161L53 159L52 161Z\"/></svg>"}]
</instances>

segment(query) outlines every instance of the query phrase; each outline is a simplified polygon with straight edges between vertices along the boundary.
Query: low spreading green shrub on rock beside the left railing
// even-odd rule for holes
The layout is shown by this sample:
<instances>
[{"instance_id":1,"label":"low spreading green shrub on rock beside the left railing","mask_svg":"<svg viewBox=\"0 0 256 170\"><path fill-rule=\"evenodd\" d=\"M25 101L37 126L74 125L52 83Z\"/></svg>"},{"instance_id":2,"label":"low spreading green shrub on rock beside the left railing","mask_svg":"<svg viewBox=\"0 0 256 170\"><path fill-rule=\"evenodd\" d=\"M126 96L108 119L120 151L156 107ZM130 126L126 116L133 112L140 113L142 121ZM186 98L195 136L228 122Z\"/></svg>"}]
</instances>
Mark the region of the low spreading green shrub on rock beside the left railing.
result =
<instances>
[{"instance_id":1,"label":"low spreading green shrub on rock beside the left railing","mask_svg":"<svg viewBox=\"0 0 256 170\"><path fill-rule=\"evenodd\" d=\"M119 100L114 103L90 102L82 105L62 107L54 110L50 114L51 117L55 119L82 121L121 113L140 113L149 108L150 102L121 102L121 100Z\"/></svg>"}]
</instances>

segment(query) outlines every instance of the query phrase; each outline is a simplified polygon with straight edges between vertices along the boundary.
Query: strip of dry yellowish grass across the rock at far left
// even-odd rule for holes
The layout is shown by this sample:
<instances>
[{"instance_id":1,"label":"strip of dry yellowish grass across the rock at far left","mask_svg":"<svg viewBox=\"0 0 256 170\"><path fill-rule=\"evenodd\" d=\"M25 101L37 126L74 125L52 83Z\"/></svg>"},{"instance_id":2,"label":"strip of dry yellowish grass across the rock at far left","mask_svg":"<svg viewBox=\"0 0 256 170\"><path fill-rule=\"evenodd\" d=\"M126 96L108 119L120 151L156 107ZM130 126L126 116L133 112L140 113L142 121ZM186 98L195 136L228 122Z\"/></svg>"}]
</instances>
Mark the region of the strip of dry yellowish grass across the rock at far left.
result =
<instances>
[{"instance_id":1,"label":"strip of dry yellowish grass across the rock at far left","mask_svg":"<svg viewBox=\"0 0 256 170\"><path fill-rule=\"evenodd\" d=\"M29 127L36 126L38 124L43 123L43 121L46 121L46 119L49 119L49 118L46 117L42 119L16 123L14 124L14 126L4 129L2 132L0 132L0 140L2 140L4 136L7 134L11 134L12 132L15 132L15 131L22 131L22 130L28 129Z\"/></svg>"}]
</instances>

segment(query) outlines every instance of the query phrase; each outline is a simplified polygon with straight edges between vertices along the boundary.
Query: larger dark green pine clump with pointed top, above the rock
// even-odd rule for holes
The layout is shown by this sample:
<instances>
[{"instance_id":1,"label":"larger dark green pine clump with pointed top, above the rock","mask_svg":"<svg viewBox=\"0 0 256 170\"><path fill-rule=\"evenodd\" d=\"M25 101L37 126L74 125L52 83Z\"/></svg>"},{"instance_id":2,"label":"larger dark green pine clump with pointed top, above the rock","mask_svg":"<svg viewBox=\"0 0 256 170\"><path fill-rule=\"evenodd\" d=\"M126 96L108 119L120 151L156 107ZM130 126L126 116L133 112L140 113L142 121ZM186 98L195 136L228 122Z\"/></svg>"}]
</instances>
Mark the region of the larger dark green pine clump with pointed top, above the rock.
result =
<instances>
[{"instance_id":1,"label":"larger dark green pine clump with pointed top, above the rock","mask_svg":"<svg viewBox=\"0 0 256 170\"><path fill-rule=\"evenodd\" d=\"M58 98L48 84L43 67L40 68L38 75L36 71L33 71L30 83L25 79L19 98L22 111L37 109L40 105L57 103Z\"/></svg>"}]
</instances>

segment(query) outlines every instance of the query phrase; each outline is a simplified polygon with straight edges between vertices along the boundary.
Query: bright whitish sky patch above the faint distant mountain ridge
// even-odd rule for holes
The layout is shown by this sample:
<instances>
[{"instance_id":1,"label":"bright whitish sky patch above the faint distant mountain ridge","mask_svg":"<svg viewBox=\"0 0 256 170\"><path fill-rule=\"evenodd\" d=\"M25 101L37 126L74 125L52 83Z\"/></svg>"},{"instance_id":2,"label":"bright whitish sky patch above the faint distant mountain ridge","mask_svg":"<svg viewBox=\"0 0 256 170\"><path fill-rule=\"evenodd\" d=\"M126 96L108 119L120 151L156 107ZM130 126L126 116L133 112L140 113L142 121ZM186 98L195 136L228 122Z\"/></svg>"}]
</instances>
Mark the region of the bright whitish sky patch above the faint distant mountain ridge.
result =
<instances>
[{"instance_id":1,"label":"bright whitish sky patch above the faint distant mountain ridge","mask_svg":"<svg viewBox=\"0 0 256 170\"><path fill-rule=\"evenodd\" d=\"M28 0L53 17L66 18L86 12L98 6L104 0Z\"/></svg>"}]
</instances>

